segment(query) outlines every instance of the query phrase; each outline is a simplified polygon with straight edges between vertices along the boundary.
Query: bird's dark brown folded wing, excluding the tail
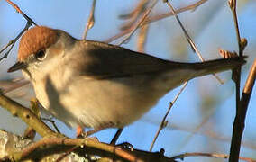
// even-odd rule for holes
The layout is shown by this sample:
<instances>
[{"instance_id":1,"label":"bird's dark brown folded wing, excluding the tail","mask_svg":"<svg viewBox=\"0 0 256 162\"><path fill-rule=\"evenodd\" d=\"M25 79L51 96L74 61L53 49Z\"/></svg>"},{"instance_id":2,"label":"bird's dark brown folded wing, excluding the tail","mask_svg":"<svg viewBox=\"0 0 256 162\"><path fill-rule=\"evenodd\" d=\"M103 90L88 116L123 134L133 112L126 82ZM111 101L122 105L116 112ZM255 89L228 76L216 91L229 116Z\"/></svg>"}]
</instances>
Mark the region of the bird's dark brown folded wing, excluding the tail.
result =
<instances>
[{"instance_id":1,"label":"bird's dark brown folded wing, excluding the tail","mask_svg":"<svg viewBox=\"0 0 256 162\"><path fill-rule=\"evenodd\" d=\"M83 74L94 78L125 77L187 67L189 64L155 58L147 54L123 49L97 41L83 41Z\"/></svg>"}]
</instances>

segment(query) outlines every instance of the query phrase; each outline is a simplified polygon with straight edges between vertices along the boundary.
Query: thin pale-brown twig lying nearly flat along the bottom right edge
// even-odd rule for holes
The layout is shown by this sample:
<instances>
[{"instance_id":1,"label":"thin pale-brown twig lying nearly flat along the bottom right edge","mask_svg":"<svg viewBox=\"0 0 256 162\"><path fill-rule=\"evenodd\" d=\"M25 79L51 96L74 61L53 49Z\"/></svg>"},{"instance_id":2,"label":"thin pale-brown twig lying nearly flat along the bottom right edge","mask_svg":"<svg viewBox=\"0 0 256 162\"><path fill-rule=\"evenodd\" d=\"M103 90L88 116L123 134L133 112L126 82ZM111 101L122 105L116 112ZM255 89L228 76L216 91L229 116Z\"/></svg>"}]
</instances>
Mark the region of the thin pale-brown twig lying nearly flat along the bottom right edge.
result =
<instances>
[{"instance_id":1,"label":"thin pale-brown twig lying nearly flat along the bottom right edge","mask_svg":"<svg viewBox=\"0 0 256 162\"><path fill-rule=\"evenodd\" d=\"M216 153L202 153L202 152L191 152L191 153L184 153L180 154L175 157L171 157L171 159L181 159L183 160L185 157L215 157L215 158L224 158L227 159L229 156L226 154L216 154ZM256 160L248 157L239 157L239 159L243 161L248 161L248 162L256 162Z\"/></svg>"}]
</instances>

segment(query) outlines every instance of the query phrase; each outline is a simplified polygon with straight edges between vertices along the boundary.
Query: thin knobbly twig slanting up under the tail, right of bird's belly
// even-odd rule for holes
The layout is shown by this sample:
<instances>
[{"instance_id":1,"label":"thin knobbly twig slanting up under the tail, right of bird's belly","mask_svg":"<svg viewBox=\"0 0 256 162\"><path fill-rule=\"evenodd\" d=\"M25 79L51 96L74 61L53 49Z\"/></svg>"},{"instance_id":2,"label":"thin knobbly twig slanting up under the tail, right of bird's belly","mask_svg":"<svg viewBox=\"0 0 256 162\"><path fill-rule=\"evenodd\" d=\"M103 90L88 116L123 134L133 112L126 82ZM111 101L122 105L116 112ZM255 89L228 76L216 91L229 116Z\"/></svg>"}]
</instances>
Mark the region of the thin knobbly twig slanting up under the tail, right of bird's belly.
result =
<instances>
[{"instance_id":1,"label":"thin knobbly twig slanting up under the tail, right of bird's belly","mask_svg":"<svg viewBox=\"0 0 256 162\"><path fill-rule=\"evenodd\" d=\"M164 117L163 117L163 119L162 119L162 121L161 121L161 123L160 123L159 130L156 132L155 137L154 137L154 139L153 139L153 141L152 141L152 143L151 143L150 151L152 151L152 148L154 147L154 144L155 144L155 142L156 142L156 139L159 137L160 130L162 130L163 128L166 127L166 125L167 125L166 118L167 118L167 116L169 115L169 111L170 111L171 107L173 106L173 104L177 101L178 96L183 92L183 90L184 90L185 87L187 86L187 83L188 83L188 81L185 82L185 83L182 85L182 87L181 87L181 89L179 90L178 94L176 94L174 100L169 103L169 108L168 108L167 112L165 113L165 115L164 115Z\"/></svg>"}]
</instances>

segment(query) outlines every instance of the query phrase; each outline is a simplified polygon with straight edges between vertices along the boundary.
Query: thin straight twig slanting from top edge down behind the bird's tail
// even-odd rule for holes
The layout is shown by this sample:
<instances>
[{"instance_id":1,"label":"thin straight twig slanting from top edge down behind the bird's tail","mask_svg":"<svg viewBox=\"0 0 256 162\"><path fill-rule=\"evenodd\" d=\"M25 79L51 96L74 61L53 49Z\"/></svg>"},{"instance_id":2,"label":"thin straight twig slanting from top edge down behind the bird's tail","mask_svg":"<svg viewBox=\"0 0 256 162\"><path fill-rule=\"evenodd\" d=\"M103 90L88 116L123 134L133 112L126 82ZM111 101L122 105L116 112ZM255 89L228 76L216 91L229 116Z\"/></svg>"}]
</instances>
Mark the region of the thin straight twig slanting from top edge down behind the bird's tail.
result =
<instances>
[{"instance_id":1,"label":"thin straight twig slanting from top edge down behind the bird's tail","mask_svg":"<svg viewBox=\"0 0 256 162\"><path fill-rule=\"evenodd\" d=\"M180 22L180 20L179 20L179 18L178 18L178 15L176 14L175 9L172 7L172 5L169 3L168 0L165 0L165 3L167 3L167 4L169 5L169 8L170 8L170 10L171 10L171 13L175 16L175 18L176 18L176 20L177 20L179 26L181 27L182 31L184 32L185 37L186 37L188 43L189 43L190 46L191 46L191 49L193 49L193 51L197 53L198 58L200 58L200 60L201 60L202 62L204 62L205 59L202 57L202 55L200 54L199 50L197 49L196 44L195 44L194 41L191 39L191 37L188 35L188 33L187 33L185 27L183 26L183 24ZM219 82L220 84L224 84L224 82L222 81L222 79L221 79L219 76L217 76L216 74L213 74L213 76L215 76L215 78L218 80L218 82Z\"/></svg>"}]
</instances>

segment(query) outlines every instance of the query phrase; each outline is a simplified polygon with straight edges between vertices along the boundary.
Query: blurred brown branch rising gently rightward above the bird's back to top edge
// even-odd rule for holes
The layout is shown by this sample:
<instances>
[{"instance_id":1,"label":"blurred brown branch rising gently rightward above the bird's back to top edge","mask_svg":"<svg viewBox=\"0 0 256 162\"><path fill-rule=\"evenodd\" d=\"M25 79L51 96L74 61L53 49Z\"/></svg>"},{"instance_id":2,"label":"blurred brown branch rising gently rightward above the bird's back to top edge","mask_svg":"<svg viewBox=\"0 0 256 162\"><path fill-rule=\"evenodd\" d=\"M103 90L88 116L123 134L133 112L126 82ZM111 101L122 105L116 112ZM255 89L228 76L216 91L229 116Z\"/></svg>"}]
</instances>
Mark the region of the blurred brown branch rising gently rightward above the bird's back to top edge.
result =
<instances>
[{"instance_id":1,"label":"blurred brown branch rising gently rightward above the bird's back to top edge","mask_svg":"<svg viewBox=\"0 0 256 162\"><path fill-rule=\"evenodd\" d=\"M188 5L186 7L179 8L179 9L176 10L176 13L179 14L179 13L186 12L188 10L195 10L199 5L204 4L206 1L207 0L200 0L197 3L195 3L195 4L191 4L191 5ZM142 25L145 25L145 24L148 24L148 23L153 23L153 22L159 21L161 19L167 18L169 16L172 16L172 15L173 15L172 13L167 13L167 14L160 14L160 15L149 17L148 19L146 19L145 21L142 22L140 27ZM125 31L122 31L122 32L114 35L113 37L105 40L105 42L109 43L109 42L112 42L114 40L117 40L117 39L123 37L124 35L130 33L132 30L133 30L133 28L131 27L131 28L129 28L129 29L125 30Z\"/></svg>"}]
</instances>

